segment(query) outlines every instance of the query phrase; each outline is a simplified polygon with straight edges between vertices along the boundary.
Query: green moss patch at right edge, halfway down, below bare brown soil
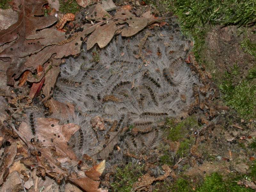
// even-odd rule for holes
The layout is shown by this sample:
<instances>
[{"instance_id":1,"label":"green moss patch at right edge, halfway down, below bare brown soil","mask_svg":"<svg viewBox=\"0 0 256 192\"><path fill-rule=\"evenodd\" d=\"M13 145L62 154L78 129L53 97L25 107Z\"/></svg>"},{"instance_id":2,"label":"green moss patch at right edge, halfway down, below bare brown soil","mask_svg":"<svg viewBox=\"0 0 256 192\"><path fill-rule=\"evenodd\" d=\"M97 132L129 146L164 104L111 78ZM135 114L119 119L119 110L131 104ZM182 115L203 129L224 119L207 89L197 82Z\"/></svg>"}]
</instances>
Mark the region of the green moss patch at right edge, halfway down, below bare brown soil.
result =
<instances>
[{"instance_id":1,"label":"green moss patch at right edge, halfway down, below bare brown soil","mask_svg":"<svg viewBox=\"0 0 256 192\"><path fill-rule=\"evenodd\" d=\"M222 83L219 85L226 105L235 108L246 119L255 116L256 84L252 82L252 79L255 78L255 71L255 69L251 69L246 79L235 84L234 79L239 75L239 71L234 66L232 73L226 72Z\"/></svg>"}]
</instances>

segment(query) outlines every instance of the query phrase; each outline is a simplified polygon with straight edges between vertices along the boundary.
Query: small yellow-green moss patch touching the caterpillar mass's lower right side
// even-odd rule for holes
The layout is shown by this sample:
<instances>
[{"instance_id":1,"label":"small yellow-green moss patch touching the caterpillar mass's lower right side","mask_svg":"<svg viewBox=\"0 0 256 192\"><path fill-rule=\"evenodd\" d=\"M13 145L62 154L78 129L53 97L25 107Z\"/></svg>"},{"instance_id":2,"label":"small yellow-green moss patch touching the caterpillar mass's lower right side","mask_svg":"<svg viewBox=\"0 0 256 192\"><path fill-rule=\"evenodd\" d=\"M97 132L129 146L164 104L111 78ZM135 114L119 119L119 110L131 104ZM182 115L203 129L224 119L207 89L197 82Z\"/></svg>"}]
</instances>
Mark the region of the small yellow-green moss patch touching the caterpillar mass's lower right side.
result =
<instances>
[{"instance_id":1,"label":"small yellow-green moss patch touching the caterpillar mass's lower right side","mask_svg":"<svg viewBox=\"0 0 256 192\"><path fill-rule=\"evenodd\" d=\"M167 138L172 141L178 141L188 133L188 129L198 126L195 116L189 116L180 123L174 124L173 119L167 119L168 136Z\"/></svg>"}]
</instances>

